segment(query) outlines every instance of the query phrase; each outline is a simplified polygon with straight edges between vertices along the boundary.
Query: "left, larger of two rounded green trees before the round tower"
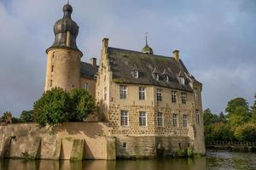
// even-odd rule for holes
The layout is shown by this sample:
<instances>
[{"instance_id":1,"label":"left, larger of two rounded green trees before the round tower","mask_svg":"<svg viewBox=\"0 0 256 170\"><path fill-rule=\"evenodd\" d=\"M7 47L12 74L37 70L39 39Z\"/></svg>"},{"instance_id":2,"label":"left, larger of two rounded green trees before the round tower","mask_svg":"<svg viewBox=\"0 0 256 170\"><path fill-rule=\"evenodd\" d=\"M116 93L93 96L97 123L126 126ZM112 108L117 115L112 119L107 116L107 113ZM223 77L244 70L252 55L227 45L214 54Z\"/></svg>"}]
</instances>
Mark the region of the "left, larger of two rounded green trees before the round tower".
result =
<instances>
[{"instance_id":1,"label":"left, larger of two rounded green trees before the round tower","mask_svg":"<svg viewBox=\"0 0 256 170\"><path fill-rule=\"evenodd\" d=\"M34 118L40 126L68 121L71 99L61 88L52 88L34 103Z\"/></svg>"}]
</instances>

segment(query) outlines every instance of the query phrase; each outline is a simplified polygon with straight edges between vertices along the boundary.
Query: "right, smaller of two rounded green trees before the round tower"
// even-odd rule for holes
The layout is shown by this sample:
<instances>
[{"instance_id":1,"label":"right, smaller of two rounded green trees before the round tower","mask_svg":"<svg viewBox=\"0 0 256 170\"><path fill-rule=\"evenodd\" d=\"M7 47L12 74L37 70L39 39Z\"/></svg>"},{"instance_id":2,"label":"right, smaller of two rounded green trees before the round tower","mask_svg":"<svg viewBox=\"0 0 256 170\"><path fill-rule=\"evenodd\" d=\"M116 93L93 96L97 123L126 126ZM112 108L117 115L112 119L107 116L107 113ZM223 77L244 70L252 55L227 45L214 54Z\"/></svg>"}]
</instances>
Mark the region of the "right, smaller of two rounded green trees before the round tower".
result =
<instances>
[{"instance_id":1,"label":"right, smaller of two rounded green trees before the round tower","mask_svg":"<svg viewBox=\"0 0 256 170\"><path fill-rule=\"evenodd\" d=\"M96 109L94 99L85 89L74 88L70 98L73 110L69 116L70 122L83 122Z\"/></svg>"}]
</instances>

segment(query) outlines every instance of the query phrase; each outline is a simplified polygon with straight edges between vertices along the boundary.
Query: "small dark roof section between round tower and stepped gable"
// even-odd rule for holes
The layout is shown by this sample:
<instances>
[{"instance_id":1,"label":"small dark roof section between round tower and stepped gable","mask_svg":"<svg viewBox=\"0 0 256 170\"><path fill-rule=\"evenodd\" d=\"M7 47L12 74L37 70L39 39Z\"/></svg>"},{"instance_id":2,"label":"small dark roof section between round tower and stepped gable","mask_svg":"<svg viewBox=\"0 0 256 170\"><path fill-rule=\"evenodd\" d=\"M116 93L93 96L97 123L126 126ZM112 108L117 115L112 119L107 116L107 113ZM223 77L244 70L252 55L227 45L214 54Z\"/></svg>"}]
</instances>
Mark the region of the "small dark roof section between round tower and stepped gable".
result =
<instances>
[{"instance_id":1,"label":"small dark roof section between round tower and stepped gable","mask_svg":"<svg viewBox=\"0 0 256 170\"><path fill-rule=\"evenodd\" d=\"M81 61L80 74L82 77L94 78L98 71L98 66L90 65L90 63L85 63Z\"/></svg>"}]
</instances>

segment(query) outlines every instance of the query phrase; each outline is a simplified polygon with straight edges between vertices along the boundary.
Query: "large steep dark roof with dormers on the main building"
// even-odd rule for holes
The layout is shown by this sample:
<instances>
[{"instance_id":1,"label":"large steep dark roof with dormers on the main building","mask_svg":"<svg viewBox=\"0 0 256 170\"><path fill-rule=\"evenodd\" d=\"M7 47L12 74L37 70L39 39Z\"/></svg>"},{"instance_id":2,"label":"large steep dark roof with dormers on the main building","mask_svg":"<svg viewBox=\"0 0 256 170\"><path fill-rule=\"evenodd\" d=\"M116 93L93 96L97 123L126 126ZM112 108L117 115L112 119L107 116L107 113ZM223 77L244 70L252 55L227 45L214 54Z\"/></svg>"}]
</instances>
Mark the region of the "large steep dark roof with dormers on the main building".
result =
<instances>
[{"instance_id":1,"label":"large steep dark roof with dormers on the main building","mask_svg":"<svg viewBox=\"0 0 256 170\"><path fill-rule=\"evenodd\" d=\"M155 85L166 88L177 88L185 91L192 91L189 82L196 81L190 76L189 71L183 65L182 60L177 61L172 57L165 57L155 54L143 54L120 48L108 48L108 58L113 82ZM134 69L139 71L139 77L132 77ZM153 72L160 74L160 80L154 80ZM163 79L163 73L169 76L169 82ZM185 75L185 84L177 80L177 75Z\"/></svg>"}]
</instances>

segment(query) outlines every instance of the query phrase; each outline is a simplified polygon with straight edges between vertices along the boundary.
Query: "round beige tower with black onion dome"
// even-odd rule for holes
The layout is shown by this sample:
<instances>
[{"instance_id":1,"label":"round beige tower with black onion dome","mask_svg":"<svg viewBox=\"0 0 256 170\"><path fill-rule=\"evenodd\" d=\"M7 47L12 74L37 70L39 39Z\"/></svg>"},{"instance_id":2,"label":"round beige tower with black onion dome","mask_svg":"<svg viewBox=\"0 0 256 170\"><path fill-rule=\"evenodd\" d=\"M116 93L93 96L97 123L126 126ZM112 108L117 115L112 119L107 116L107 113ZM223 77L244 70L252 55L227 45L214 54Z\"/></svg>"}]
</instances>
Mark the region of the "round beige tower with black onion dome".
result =
<instances>
[{"instance_id":1,"label":"round beige tower with black onion dome","mask_svg":"<svg viewBox=\"0 0 256 170\"><path fill-rule=\"evenodd\" d=\"M47 68L44 91L58 87L79 88L82 52L76 44L79 26L71 19L73 8L63 7L64 16L55 22L55 42L46 50Z\"/></svg>"}]
</instances>

